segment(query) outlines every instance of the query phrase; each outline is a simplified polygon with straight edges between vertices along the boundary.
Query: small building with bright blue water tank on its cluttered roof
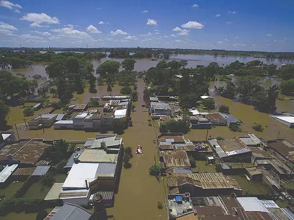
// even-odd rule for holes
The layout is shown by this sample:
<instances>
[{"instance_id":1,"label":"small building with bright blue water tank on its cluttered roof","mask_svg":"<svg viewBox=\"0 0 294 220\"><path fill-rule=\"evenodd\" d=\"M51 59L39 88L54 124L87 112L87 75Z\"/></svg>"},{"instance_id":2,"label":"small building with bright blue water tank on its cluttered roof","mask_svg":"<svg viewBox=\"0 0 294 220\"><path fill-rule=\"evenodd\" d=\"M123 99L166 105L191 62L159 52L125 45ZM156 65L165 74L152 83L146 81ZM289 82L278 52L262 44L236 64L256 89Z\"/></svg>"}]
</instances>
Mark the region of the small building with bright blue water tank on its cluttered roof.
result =
<instances>
[{"instance_id":1,"label":"small building with bright blue water tank on its cluttered roof","mask_svg":"<svg viewBox=\"0 0 294 220\"><path fill-rule=\"evenodd\" d=\"M197 220L197 218L194 217L194 209L190 199L190 193L167 194L166 201L170 220L177 220L184 216L187 217L190 214L193 216L190 220Z\"/></svg>"}]
</instances>

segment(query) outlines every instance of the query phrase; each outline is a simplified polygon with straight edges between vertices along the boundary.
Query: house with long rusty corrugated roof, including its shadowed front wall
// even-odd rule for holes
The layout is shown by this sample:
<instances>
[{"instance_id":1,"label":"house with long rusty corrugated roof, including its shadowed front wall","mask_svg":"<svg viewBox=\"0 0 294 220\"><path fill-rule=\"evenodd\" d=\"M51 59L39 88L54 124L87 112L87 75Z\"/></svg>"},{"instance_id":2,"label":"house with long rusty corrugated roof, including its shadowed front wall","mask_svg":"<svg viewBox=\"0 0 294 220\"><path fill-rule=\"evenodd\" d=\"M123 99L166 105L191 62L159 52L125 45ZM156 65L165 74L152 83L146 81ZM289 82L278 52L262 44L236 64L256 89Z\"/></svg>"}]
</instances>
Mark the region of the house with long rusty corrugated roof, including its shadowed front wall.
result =
<instances>
[{"instance_id":1,"label":"house with long rusty corrugated roof, including its shadowed front wall","mask_svg":"<svg viewBox=\"0 0 294 220\"><path fill-rule=\"evenodd\" d=\"M167 182L170 193L189 192L192 197L242 195L236 180L223 173L171 173Z\"/></svg>"}]
</instances>

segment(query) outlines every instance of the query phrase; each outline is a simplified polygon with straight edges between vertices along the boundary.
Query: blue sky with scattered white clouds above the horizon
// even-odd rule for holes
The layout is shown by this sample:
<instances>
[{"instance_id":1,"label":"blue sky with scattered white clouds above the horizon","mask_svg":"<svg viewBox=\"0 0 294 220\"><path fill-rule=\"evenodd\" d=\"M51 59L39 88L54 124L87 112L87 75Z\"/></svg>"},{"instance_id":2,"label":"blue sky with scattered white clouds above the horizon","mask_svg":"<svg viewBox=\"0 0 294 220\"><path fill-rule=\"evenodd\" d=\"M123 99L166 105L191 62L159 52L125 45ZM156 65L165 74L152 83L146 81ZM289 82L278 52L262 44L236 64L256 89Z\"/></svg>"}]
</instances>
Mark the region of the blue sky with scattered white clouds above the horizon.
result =
<instances>
[{"instance_id":1,"label":"blue sky with scattered white clouds above the horizon","mask_svg":"<svg viewBox=\"0 0 294 220\"><path fill-rule=\"evenodd\" d=\"M293 0L0 0L0 47L294 51Z\"/></svg>"}]
</instances>

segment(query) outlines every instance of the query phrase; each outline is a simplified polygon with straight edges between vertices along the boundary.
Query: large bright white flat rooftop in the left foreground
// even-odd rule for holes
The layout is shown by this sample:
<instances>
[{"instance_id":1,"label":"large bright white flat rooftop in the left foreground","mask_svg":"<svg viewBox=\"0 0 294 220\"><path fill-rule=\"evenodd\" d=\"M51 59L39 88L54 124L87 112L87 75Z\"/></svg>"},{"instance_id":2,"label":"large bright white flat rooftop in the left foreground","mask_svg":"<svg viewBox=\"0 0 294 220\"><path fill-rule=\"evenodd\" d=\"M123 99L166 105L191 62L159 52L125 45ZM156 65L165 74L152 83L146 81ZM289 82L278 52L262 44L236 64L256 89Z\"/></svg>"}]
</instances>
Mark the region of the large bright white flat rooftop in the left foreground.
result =
<instances>
[{"instance_id":1,"label":"large bright white flat rooftop in the left foreground","mask_svg":"<svg viewBox=\"0 0 294 220\"><path fill-rule=\"evenodd\" d=\"M99 163L74 163L62 189L86 189L86 182L96 179Z\"/></svg>"}]
</instances>

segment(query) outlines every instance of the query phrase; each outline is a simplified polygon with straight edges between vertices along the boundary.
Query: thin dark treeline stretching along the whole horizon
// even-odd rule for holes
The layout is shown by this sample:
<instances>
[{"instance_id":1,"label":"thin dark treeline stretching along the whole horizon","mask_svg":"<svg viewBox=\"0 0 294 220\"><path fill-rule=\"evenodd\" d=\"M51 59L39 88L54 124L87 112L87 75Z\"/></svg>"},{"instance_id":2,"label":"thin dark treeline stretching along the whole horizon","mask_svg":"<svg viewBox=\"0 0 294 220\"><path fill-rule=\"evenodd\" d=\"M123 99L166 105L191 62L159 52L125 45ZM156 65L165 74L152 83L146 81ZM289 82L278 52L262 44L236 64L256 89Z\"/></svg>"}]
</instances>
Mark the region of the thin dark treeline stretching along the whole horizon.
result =
<instances>
[{"instance_id":1,"label":"thin dark treeline stretching along the whole horizon","mask_svg":"<svg viewBox=\"0 0 294 220\"><path fill-rule=\"evenodd\" d=\"M267 59L280 59L280 60L294 60L294 52L263 52L263 51L234 51L234 50L202 50L202 49L165 49L165 48L140 48L140 47L119 47L119 48L62 48L62 47L49 47L49 48L8 48L2 47L2 49L8 50L52 50L52 51L79 51L79 52L112 52L120 51L120 54L112 53L112 57L128 58L129 53L135 53L133 57L143 58L152 57L160 53L164 54L194 54L194 55L212 55L212 56L252 56L256 58ZM116 54L116 55L115 55Z\"/></svg>"}]
</instances>

